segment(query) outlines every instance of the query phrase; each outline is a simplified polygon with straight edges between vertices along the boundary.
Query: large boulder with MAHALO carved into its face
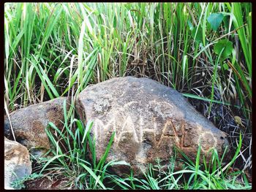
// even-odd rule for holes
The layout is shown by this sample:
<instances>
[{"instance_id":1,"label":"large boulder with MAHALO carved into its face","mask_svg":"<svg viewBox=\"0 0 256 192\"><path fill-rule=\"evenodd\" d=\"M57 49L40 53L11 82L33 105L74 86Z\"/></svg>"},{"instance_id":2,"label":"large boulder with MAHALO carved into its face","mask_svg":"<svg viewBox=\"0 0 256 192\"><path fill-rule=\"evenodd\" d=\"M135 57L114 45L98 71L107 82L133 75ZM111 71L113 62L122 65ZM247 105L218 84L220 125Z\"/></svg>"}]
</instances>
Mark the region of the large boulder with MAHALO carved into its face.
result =
<instances>
[{"instance_id":1,"label":"large boulder with MAHALO carved into its face","mask_svg":"<svg viewBox=\"0 0 256 192\"><path fill-rule=\"evenodd\" d=\"M84 122L94 121L97 161L116 131L107 161L124 160L135 175L161 158L167 164L173 146L192 160L201 142L202 153L228 146L226 134L200 115L181 93L147 78L119 77L87 87L78 96L77 110ZM124 174L126 166L116 166Z\"/></svg>"}]
</instances>

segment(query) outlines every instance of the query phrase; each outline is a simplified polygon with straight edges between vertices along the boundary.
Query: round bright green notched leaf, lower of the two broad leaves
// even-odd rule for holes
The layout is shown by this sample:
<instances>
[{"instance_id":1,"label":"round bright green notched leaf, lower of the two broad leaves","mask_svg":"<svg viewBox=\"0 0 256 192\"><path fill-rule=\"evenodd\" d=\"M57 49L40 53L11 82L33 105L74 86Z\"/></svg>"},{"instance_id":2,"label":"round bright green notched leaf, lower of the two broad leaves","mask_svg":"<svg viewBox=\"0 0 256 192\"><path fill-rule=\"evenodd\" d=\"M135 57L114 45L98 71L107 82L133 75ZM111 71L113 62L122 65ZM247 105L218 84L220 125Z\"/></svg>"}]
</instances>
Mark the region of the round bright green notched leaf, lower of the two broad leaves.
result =
<instances>
[{"instance_id":1,"label":"round bright green notched leaf, lower of the two broad leaves","mask_svg":"<svg viewBox=\"0 0 256 192\"><path fill-rule=\"evenodd\" d=\"M214 52L219 55L224 47L222 52L222 59L227 58L233 50L233 43L227 39L220 40L217 44L214 45Z\"/></svg>"}]
</instances>

